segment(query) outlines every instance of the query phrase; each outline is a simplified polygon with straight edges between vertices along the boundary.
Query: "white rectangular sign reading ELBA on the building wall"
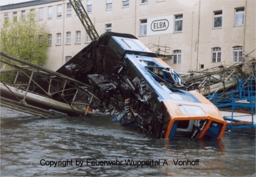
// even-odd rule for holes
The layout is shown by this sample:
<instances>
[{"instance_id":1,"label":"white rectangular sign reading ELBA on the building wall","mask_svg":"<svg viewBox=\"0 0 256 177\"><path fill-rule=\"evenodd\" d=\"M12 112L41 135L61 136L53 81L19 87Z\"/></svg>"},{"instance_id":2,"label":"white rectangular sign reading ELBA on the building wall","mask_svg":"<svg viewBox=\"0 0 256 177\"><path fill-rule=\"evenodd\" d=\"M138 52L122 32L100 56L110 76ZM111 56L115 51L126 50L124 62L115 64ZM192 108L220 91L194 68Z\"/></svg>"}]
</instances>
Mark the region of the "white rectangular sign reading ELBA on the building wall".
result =
<instances>
[{"instance_id":1,"label":"white rectangular sign reading ELBA on the building wall","mask_svg":"<svg viewBox=\"0 0 256 177\"><path fill-rule=\"evenodd\" d=\"M148 19L147 35L173 33L173 16Z\"/></svg>"}]
</instances>

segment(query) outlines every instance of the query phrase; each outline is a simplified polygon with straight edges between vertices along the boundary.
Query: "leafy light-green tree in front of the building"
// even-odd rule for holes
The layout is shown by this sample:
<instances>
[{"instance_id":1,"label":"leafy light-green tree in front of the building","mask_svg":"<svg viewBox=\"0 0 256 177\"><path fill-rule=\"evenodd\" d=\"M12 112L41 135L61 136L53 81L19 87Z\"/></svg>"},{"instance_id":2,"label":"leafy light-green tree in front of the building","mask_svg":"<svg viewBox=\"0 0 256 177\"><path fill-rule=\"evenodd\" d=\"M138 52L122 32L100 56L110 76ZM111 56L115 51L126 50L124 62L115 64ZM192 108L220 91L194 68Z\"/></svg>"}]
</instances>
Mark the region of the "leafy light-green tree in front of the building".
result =
<instances>
[{"instance_id":1,"label":"leafy light-green tree in front of the building","mask_svg":"<svg viewBox=\"0 0 256 177\"><path fill-rule=\"evenodd\" d=\"M48 32L45 23L28 13L26 19L5 20L1 28L1 51L25 61L42 66L47 60Z\"/></svg>"}]
</instances>

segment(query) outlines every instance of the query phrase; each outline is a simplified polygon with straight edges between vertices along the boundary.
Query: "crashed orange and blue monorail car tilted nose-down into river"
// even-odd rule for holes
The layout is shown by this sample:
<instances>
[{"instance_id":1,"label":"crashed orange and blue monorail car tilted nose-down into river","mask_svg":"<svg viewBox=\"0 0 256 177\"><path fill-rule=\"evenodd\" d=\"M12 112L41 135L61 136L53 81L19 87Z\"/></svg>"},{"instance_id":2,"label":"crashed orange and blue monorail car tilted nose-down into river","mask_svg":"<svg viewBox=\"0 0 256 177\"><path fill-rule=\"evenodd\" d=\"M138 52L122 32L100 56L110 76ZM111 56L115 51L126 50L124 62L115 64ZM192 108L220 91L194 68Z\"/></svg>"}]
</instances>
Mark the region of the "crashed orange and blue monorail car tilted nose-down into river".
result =
<instances>
[{"instance_id":1,"label":"crashed orange and blue monorail car tilted nose-down into river","mask_svg":"<svg viewBox=\"0 0 256 177\"><path fill-rule=\"evenodd\" d=\"M157 138L221 138L225 130L219 110L130 34L102 34L57 72L91 84L105 105L120 94L131 122Z\"/></svg>"}]
</instances>

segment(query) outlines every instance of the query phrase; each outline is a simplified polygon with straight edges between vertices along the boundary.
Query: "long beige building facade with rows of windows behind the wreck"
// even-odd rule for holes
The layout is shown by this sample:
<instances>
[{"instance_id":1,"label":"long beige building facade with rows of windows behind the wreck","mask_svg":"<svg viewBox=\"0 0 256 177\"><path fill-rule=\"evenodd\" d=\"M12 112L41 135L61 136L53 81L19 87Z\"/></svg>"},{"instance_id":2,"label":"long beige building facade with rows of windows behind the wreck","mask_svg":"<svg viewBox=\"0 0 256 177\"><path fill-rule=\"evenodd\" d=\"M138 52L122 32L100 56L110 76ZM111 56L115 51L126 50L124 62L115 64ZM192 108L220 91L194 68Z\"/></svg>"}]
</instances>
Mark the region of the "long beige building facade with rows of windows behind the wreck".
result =
<instances>
[{"instance_id":1,"label":"long beige building facade with rows of windows behind the wreck","mask_svg":"<svg viewBox=\"0 0 256 177\"><path fill-rule=\"evenodd\" d=\"M255 1L226 0L81 0L98 34L136 36L177 72L243 62L255 58ZM48 61L57 70L90 43L68 0L30 1L1 7L5 19L35 11L46 23Z\"/></svg>"}]
</instances>

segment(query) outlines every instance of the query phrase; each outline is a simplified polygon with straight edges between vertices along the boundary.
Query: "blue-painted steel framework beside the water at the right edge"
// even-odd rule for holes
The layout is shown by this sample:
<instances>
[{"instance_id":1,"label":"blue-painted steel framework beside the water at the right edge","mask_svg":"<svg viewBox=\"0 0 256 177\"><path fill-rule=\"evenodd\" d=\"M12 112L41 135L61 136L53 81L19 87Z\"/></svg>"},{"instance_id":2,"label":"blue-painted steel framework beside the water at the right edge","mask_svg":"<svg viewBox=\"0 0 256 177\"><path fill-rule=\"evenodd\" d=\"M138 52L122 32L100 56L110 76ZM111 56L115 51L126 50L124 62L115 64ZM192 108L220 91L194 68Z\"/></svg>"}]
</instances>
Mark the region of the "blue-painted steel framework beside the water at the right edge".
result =
<instances>
[{"instance_id":1,"label":"blue-painted steel framework beside the water at the right edge","mask_svg":"<svg viewBox=\"0 0 256 177\"><path fill-rule=\"evenodd\" d=\"M255 82L256 79L242 79L237 78L237 90L226 92L222 94L214 93L214 95L208 95L208 99L216 105L217 108L232 110L231 116L224 116L225 120L231 121L226 125L226 129L243 129L243 128L255 128L254 116L255 116ZM239 108L248 108L252 120L251 122L243 122L237 120L234 116L234 110ZM234 119L235 118L235 119Z\"/></svg>"}]
</instances>

